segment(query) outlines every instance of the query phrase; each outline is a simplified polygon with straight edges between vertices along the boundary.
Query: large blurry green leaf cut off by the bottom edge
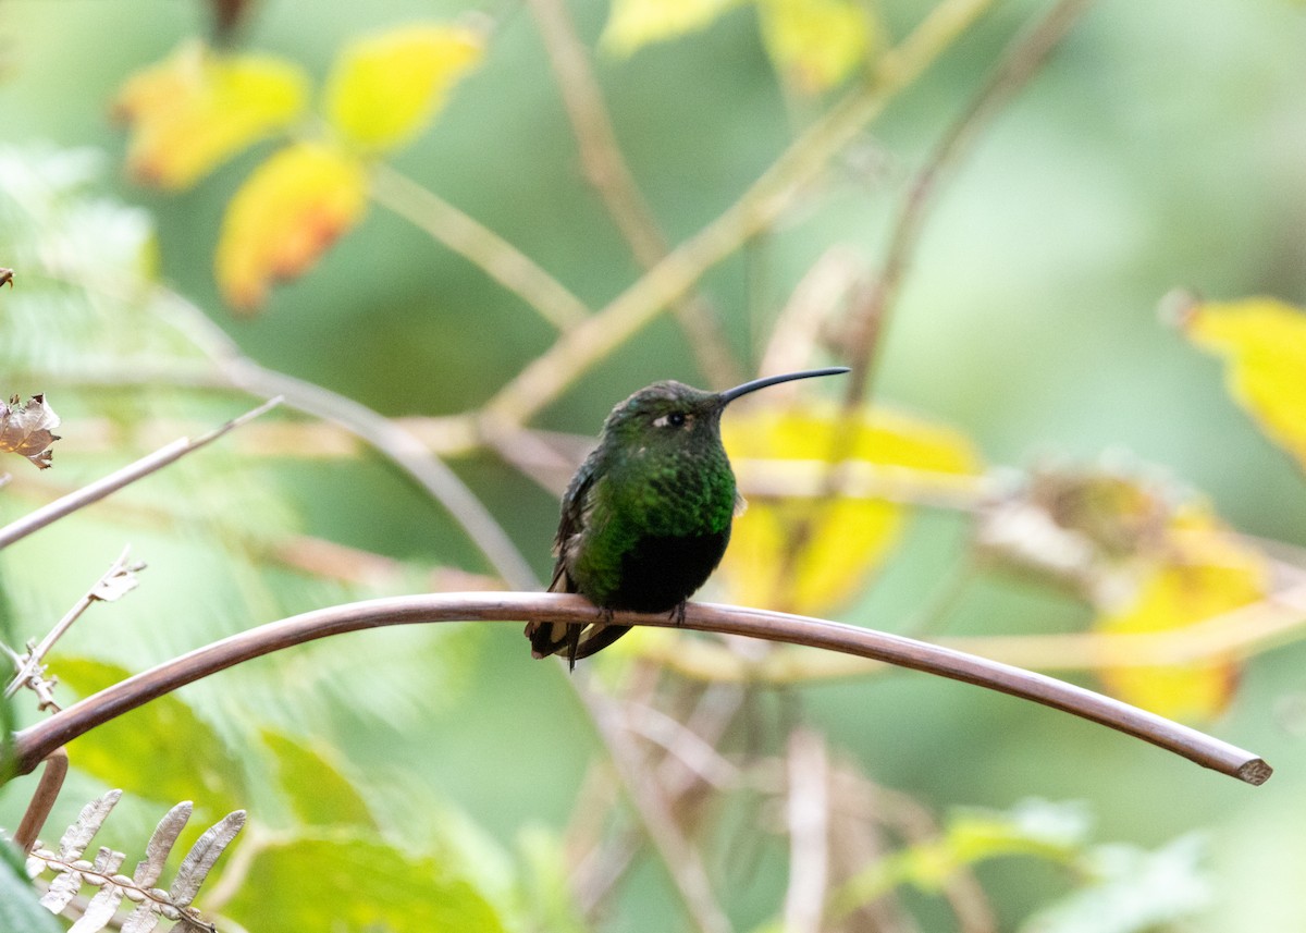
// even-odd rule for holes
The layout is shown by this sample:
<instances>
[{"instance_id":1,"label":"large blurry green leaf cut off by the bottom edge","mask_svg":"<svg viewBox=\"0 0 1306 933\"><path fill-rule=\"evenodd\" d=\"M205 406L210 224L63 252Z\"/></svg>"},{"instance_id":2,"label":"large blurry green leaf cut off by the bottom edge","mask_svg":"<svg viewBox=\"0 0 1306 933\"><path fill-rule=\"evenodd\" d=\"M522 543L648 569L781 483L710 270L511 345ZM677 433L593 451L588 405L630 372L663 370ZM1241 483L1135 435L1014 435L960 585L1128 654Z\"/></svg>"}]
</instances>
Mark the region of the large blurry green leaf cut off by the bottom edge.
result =
<instances>
[{"instance_id":1,"label":"large blurry green leaf cut off by the bottom edge","mask_svg":"<svg viewBox=\"0 0 1306 933\"><path fill-rule=\"evenodd\" d=\"M324 834L264 848L223 908L261 930L505 930L470 882L372 832Z\"/></svg>"}]
</instances>

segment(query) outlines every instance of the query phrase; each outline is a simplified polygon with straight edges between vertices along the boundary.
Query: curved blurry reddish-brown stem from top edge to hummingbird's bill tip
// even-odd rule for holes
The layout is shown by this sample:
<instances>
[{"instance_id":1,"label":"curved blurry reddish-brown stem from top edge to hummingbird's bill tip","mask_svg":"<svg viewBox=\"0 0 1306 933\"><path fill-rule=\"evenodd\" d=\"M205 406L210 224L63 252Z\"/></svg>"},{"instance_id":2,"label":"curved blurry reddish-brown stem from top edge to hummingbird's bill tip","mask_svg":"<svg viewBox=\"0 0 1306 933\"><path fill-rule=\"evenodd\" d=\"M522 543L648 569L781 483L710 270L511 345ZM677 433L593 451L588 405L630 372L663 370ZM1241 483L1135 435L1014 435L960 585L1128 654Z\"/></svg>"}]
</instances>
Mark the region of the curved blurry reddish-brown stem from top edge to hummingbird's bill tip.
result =
<instances>
[{"instance_id":1,"label":"curved blurry reddish-brown stem from top edge to hummingbird's bill tip","mask_svg":"<svg viewBox=\"0 0 1306 933\"><path fill-rule=\"evenodd\" d=\"M880 335L910 265L940 176L960 158L965 146L977 139L985 123L1038 71L1091 3L1092 0L1060 0L1033 29L1019 35L1003 52L989 81L947 129L913 179L893 222L879 282L866 289L865 301L850 312L848 362L853 371L845 383L849 406L859 405L870 388Z\"/></svg>"}]
</instances>

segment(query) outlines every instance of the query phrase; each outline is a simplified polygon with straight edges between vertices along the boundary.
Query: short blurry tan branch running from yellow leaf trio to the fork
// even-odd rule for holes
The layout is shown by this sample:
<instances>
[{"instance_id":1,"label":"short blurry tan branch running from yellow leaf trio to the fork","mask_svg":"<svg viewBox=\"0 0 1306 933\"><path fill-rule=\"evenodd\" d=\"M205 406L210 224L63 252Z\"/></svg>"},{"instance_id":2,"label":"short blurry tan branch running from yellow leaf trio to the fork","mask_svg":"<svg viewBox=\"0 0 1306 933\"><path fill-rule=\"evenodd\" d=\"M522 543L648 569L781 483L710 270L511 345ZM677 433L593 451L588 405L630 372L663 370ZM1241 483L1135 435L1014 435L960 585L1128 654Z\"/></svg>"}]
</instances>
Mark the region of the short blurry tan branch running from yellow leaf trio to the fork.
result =
<instances>
[{"instance_id":1,"label":"short blurry tan branch running from yellow leaf trio to the fork","mask_svg":"<svg viewBox=\"0 0 1306 933\"><path fill-rule=\"evenodd\" d=\"M526 254L384 162L372 166L372 199L474 263L559 331L590 316L585 302Z\"/></svg>"}]
</instances>

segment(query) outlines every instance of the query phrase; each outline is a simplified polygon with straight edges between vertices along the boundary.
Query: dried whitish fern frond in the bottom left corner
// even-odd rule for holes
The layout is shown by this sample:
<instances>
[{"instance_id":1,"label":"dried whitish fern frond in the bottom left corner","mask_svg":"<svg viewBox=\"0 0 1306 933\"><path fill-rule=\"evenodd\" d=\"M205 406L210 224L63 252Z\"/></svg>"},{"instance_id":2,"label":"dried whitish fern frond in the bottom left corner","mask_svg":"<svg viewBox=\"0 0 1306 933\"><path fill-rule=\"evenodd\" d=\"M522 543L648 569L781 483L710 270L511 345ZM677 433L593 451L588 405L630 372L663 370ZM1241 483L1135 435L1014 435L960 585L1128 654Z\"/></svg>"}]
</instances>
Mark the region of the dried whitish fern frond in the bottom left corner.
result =
<instances>
[{"instance_id":1,"label":"dried whitish fern frond in the bottom left corner","mask_svg":"<svg viewBox=\"0 0 1306 933\"><path fill-rule=\"evenodd\" d=\"M137 862L131 878L118 872L127 859L124 852L101 847L94 861L82 857L121 796L121 791L110 791L84 806L59 840L57 852L44 848L39 840L33 845L27 856L27 873L33 878L44 872L55 876L42 895L40 904L51 913L61 913L82 887L89 886L98 890L82 908L69 933L97 933L104 929L114 921L124 900L135 904L135 908L121 921L123 933L150 933L159 920L180 924L185 930L217 933L214 925L192 907L192 902L222 852L244 827L246 811L229 813L209 827L182 860L171 887L165 891L155 885L163 874L168 853L191 818L191 801L178 804L159 821L145 847L145 857Z\"/></svg>"}]
</instances>

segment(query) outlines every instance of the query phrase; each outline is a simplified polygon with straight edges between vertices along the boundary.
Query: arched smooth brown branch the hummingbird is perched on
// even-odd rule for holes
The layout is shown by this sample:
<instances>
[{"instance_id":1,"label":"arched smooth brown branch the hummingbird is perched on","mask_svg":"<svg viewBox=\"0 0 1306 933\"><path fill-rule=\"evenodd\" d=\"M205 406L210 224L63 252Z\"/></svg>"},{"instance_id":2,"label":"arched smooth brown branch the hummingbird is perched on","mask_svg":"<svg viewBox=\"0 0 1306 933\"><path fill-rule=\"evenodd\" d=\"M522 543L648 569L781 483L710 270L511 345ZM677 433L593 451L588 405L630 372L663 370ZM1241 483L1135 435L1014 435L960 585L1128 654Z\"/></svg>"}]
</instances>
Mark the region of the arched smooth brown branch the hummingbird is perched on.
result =
<instances>
[{"instance_id":1,"label":"arched smooth brown branch the hummingbird is perched on","mask_svg":"<svg viewBox=\"0 0 1306 933\"><path fill-rule=\"evenodd\" d=\"M525 618L590 621L594 608L579 596L556 593L431 593L351 602L269 622L129 677L22 729L13 742L17 770L20 774L30 772L60 745L155 696L295 644L390 625ZM674 625L661 615L633 613L616 613L614 621L622 625ZM803 615L710 604L691 604L684 627L840 651L965 681L1118 729L1249 784L1263 784L1271 775L1271 767L1258 755L1162 716L1043 674L901 635Z\"/></svg>"}]
</instances>

